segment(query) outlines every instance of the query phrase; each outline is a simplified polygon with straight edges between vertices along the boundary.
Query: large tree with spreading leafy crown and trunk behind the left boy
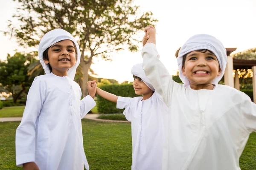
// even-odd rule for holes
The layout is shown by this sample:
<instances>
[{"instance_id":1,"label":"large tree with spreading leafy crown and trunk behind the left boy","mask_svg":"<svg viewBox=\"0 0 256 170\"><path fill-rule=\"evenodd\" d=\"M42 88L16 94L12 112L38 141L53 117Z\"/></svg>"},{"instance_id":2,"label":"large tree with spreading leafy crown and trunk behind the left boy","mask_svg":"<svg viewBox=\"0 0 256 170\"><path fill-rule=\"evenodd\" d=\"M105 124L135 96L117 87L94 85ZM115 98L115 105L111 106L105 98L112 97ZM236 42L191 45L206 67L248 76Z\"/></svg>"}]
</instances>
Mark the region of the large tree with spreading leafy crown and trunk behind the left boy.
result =
<instances>
[{"instance_id":1,"label":"large tree with spreading leafy crown and trunk behind the left boy","mask_svg":"<svg viewBox=\"0 0 256 170\"><path fill-rule=\"evenodd\" d=\"M157 22L151 12L138 14L133 0L18 0L5 34L15 36L23 46L36 46L54 28L62 28L78 39L83 71L83 96L87 94L88 70L94 56L111 59L112 51L138 50L137 32Z\"/></svg>"}]
</instances>

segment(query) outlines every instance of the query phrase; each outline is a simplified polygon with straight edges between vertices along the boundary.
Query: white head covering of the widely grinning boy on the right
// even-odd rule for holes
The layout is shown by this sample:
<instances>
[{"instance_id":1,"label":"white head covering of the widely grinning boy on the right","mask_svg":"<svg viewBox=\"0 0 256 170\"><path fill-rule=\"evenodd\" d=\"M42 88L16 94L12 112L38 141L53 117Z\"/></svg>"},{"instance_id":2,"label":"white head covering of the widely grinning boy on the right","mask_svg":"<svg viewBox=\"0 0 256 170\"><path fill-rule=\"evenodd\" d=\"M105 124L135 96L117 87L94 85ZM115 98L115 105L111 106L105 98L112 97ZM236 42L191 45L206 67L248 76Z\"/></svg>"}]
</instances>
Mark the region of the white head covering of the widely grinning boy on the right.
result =
<instances>
[{"instance_id":1,"label":"white head covering of the widely grinning boy on the right","mask_svg":"<svg viewBox=\"0 0 256 170\"><path fill-rule=\"evenodd\" d=\"M227 52L224 45L221 43L220 40L216 39L215 37L207 34L198 34L194 35L189 38L185 42L185 44L180 48L179 55L177 57L177 62L179 66L179 77L184 83L184 85L189 85L189 79L182 74L182 60L185 54L188 54L191 51L207 49L212 51L218 59L220 68L221 68L221 75L217 76L213 81L212 84L217 85L218 82L224 75L224 71L227 64Z\"/></svg>"}]
</instances>

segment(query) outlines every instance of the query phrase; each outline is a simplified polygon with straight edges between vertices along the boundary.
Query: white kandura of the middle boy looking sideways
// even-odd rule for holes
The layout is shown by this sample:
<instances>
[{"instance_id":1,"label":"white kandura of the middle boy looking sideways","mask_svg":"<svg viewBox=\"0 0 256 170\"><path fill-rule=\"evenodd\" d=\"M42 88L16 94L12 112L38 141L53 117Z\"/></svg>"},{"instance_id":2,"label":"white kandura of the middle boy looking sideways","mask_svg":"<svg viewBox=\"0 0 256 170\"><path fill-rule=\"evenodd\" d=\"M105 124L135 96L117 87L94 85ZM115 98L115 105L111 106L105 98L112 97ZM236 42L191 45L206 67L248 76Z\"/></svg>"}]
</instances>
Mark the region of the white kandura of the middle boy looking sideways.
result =
<instances>
[{"instance_id":1,"label":"white kandura of the middle boy looking sideways","mask_svg":"<svg viewBox=\"0 0 256 170\"><path fill-rule=\"evenodd\" d=\"M167 107L155 92L149 99L118 97L116 108L123 109L131 122L131 170L160 170Z\"/></svg>"}]
</instances>

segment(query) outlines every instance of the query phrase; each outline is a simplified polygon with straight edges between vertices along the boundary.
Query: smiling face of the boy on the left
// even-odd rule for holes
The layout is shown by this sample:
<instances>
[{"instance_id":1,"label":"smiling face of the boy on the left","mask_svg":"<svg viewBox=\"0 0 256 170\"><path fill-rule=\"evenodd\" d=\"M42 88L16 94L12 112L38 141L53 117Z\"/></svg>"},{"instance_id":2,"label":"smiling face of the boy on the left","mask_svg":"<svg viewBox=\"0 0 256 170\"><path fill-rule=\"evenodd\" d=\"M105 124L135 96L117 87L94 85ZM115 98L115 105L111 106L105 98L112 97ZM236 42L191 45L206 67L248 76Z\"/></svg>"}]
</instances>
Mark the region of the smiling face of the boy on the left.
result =
<instances>
[{"instance_id":1,"label":"smiling face of the boy on the left","mask_svg":"<svg viewBox=\"0 0 256 170\"><path fill-rule=\"evenodd\" d=\"M49 60L44 63L51 65L52 73L66 73L76 63L75 46L71 40L63 40L52 45L48 50Z\"/></svg>"}]
</instances>

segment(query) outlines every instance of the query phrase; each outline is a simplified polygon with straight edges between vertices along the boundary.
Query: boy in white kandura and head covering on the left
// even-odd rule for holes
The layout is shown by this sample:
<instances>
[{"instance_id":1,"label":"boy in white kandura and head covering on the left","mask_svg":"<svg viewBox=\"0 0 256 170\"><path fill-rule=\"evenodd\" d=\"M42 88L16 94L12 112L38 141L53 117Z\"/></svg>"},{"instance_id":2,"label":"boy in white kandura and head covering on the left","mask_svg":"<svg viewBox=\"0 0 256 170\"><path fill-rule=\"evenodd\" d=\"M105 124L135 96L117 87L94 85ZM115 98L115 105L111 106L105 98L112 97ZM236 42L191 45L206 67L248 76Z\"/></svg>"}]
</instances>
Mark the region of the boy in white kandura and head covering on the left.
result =
<instances>
[{"instance_id":1,"label":"boy in white kandura and head covering on the left","mask_svg":"<svg viewBox=\"0 0 256 170\"><path fill-rule=\"evenodd\" d=\"M96 85L81 100L73 81L80 62L75 38L62 29L41 39L38 56L45 75L34 79L16 131L16 164L23 170L88 170L81 119L96 105Z\"/></svg>"}]
</instances>

